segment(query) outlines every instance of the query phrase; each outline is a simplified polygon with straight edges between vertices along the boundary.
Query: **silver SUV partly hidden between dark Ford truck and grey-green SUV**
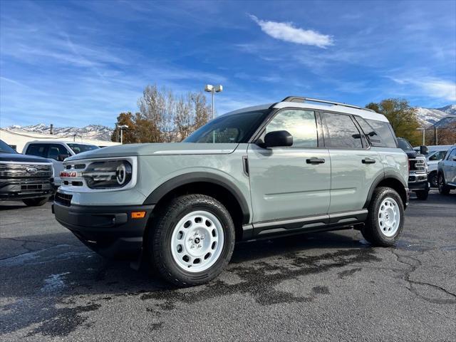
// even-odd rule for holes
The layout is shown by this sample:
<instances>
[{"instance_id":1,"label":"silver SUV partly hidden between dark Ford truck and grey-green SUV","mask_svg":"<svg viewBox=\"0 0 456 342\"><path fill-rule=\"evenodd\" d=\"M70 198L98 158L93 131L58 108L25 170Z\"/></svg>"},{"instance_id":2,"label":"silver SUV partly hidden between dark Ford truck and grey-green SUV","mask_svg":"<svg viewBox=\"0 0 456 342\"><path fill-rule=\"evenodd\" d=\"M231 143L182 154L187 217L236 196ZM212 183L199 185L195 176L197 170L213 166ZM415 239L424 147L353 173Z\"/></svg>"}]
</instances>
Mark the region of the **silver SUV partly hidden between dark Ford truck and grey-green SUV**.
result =
<instances>
[{"instance_id":1,"label":"silver SUV partly hidden between dark Ford truck and grey-green SUV","mask_svg":"<svg viewBox=\"0 0 456 342\"><path fill-rule=\"evenodd\" d=\"M63 170L63 160L81 152L97 150L98 146L85 142L46 141L36 140L27 142L22 153L24 155L36 155L37 157L48 158L52 161L54 170L54 184L61 185L60 172Z\"/></svg>"}]
</instances>

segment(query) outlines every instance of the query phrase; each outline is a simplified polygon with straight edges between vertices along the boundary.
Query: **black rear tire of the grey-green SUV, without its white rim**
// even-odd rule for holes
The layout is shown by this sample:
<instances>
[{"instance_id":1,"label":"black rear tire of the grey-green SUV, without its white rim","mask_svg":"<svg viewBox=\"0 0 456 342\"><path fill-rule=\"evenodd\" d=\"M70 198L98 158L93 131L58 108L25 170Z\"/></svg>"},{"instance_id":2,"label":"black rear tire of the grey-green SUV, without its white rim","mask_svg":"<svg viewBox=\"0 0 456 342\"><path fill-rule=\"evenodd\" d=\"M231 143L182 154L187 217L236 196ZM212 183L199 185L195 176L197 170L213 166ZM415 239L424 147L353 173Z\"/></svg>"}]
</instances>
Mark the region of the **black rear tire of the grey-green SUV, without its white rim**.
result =
<instances>
[{"instance_id":1,"label":"black rear tire of the grey-green SUV, without its white rim","mask_svg":"<svg viewBox=\"0 0 456 342\"><path fill-rule=\"evenodd\" d=\"M387 197L394 199L396 204L398 204L399 210L398 229L391 237L387 237L385 234L383 234L382 227L380 227L378 219L380 205ZM364 239L375 246L390 247L395 244L396 240L400 236L400 232L402 232L403 226L404 205L402 199L398 195L398 192L391 189L390 187L376 188L373 192L371 202L368 205L368 218L366 219L363 229L361 229L361 234L363 234Z\"/></svg>"}]
</instances>

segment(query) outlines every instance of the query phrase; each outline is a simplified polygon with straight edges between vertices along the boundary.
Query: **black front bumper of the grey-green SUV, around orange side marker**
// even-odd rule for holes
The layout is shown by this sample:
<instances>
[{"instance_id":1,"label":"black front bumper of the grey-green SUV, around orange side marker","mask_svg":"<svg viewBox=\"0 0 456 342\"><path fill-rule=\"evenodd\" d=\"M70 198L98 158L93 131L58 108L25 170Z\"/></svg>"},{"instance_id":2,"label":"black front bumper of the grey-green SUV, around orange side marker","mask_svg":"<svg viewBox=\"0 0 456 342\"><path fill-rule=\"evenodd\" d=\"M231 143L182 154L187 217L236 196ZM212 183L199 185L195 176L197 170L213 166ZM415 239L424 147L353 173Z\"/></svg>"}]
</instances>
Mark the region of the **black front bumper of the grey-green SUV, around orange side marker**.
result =
<instances>
[{"instance_id":1,"label":"black front bumper of the grey-green SUV, around orange side marker","mask_svg":"<svg viewBox=\"0 0 456 342\"><path fill-rule=\"evenodd\" d=\"M82 206L58 200L52 204L57 221L90 249L104 257L138 257L154 205ZM135 211L145 211L145 217L133 219Z\"/></svg>"}]
</instances>

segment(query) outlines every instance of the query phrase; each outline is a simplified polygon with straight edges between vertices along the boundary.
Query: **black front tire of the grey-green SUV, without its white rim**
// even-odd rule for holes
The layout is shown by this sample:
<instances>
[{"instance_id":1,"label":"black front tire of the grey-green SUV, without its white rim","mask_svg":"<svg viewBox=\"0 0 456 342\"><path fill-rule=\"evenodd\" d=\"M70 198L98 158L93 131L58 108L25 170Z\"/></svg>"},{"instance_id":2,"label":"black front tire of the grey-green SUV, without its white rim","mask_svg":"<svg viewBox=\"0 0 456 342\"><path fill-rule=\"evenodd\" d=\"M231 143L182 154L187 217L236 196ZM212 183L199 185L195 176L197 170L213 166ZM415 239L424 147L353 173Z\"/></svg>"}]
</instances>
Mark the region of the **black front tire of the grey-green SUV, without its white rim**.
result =
<instances>
[{"instance_id":1,"label":"black front tire of the grey-green SUV, without its white rim","mask_svg":"<svg viewBox=\"0 0 456 342\"><path fill-rule=\"evenodd\" d=\"M217 261L208 269L190 272L182 269L172 257L172 233L180 219L195 211L213 214L222 224L224 244ZM148 234L147 249L152 263L167 281L177 286L194 286L207 283L218 276L232 257L235 232L234 223L222 203L206 195L183 195L172 199L158 214ZM183 242L185 244L185 242Z\"/></svg>"}]
</instances>

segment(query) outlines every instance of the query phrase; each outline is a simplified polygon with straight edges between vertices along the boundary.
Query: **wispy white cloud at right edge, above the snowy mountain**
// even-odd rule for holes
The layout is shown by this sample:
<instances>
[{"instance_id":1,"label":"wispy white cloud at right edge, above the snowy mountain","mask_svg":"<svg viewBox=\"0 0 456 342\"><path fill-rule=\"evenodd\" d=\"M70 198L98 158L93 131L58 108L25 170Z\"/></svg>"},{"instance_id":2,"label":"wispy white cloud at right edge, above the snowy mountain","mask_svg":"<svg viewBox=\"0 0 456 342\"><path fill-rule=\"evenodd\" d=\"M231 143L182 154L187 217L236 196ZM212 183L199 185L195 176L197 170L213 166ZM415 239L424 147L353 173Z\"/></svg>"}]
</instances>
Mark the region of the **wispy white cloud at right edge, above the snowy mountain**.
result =
<instances>
[{"instance_id":1,"label":"wispy white cloud at right edge, above the snowy mountain","mask_svg":"<svg viewBox=\"0 0 456 342\"><path fill-rule=\"evenodd\" d=\"M456 83L445 81L440 78L392 78L398 84L415 86L422 95L431 98L456 101Z\"/></svg>"}]
</instances>

